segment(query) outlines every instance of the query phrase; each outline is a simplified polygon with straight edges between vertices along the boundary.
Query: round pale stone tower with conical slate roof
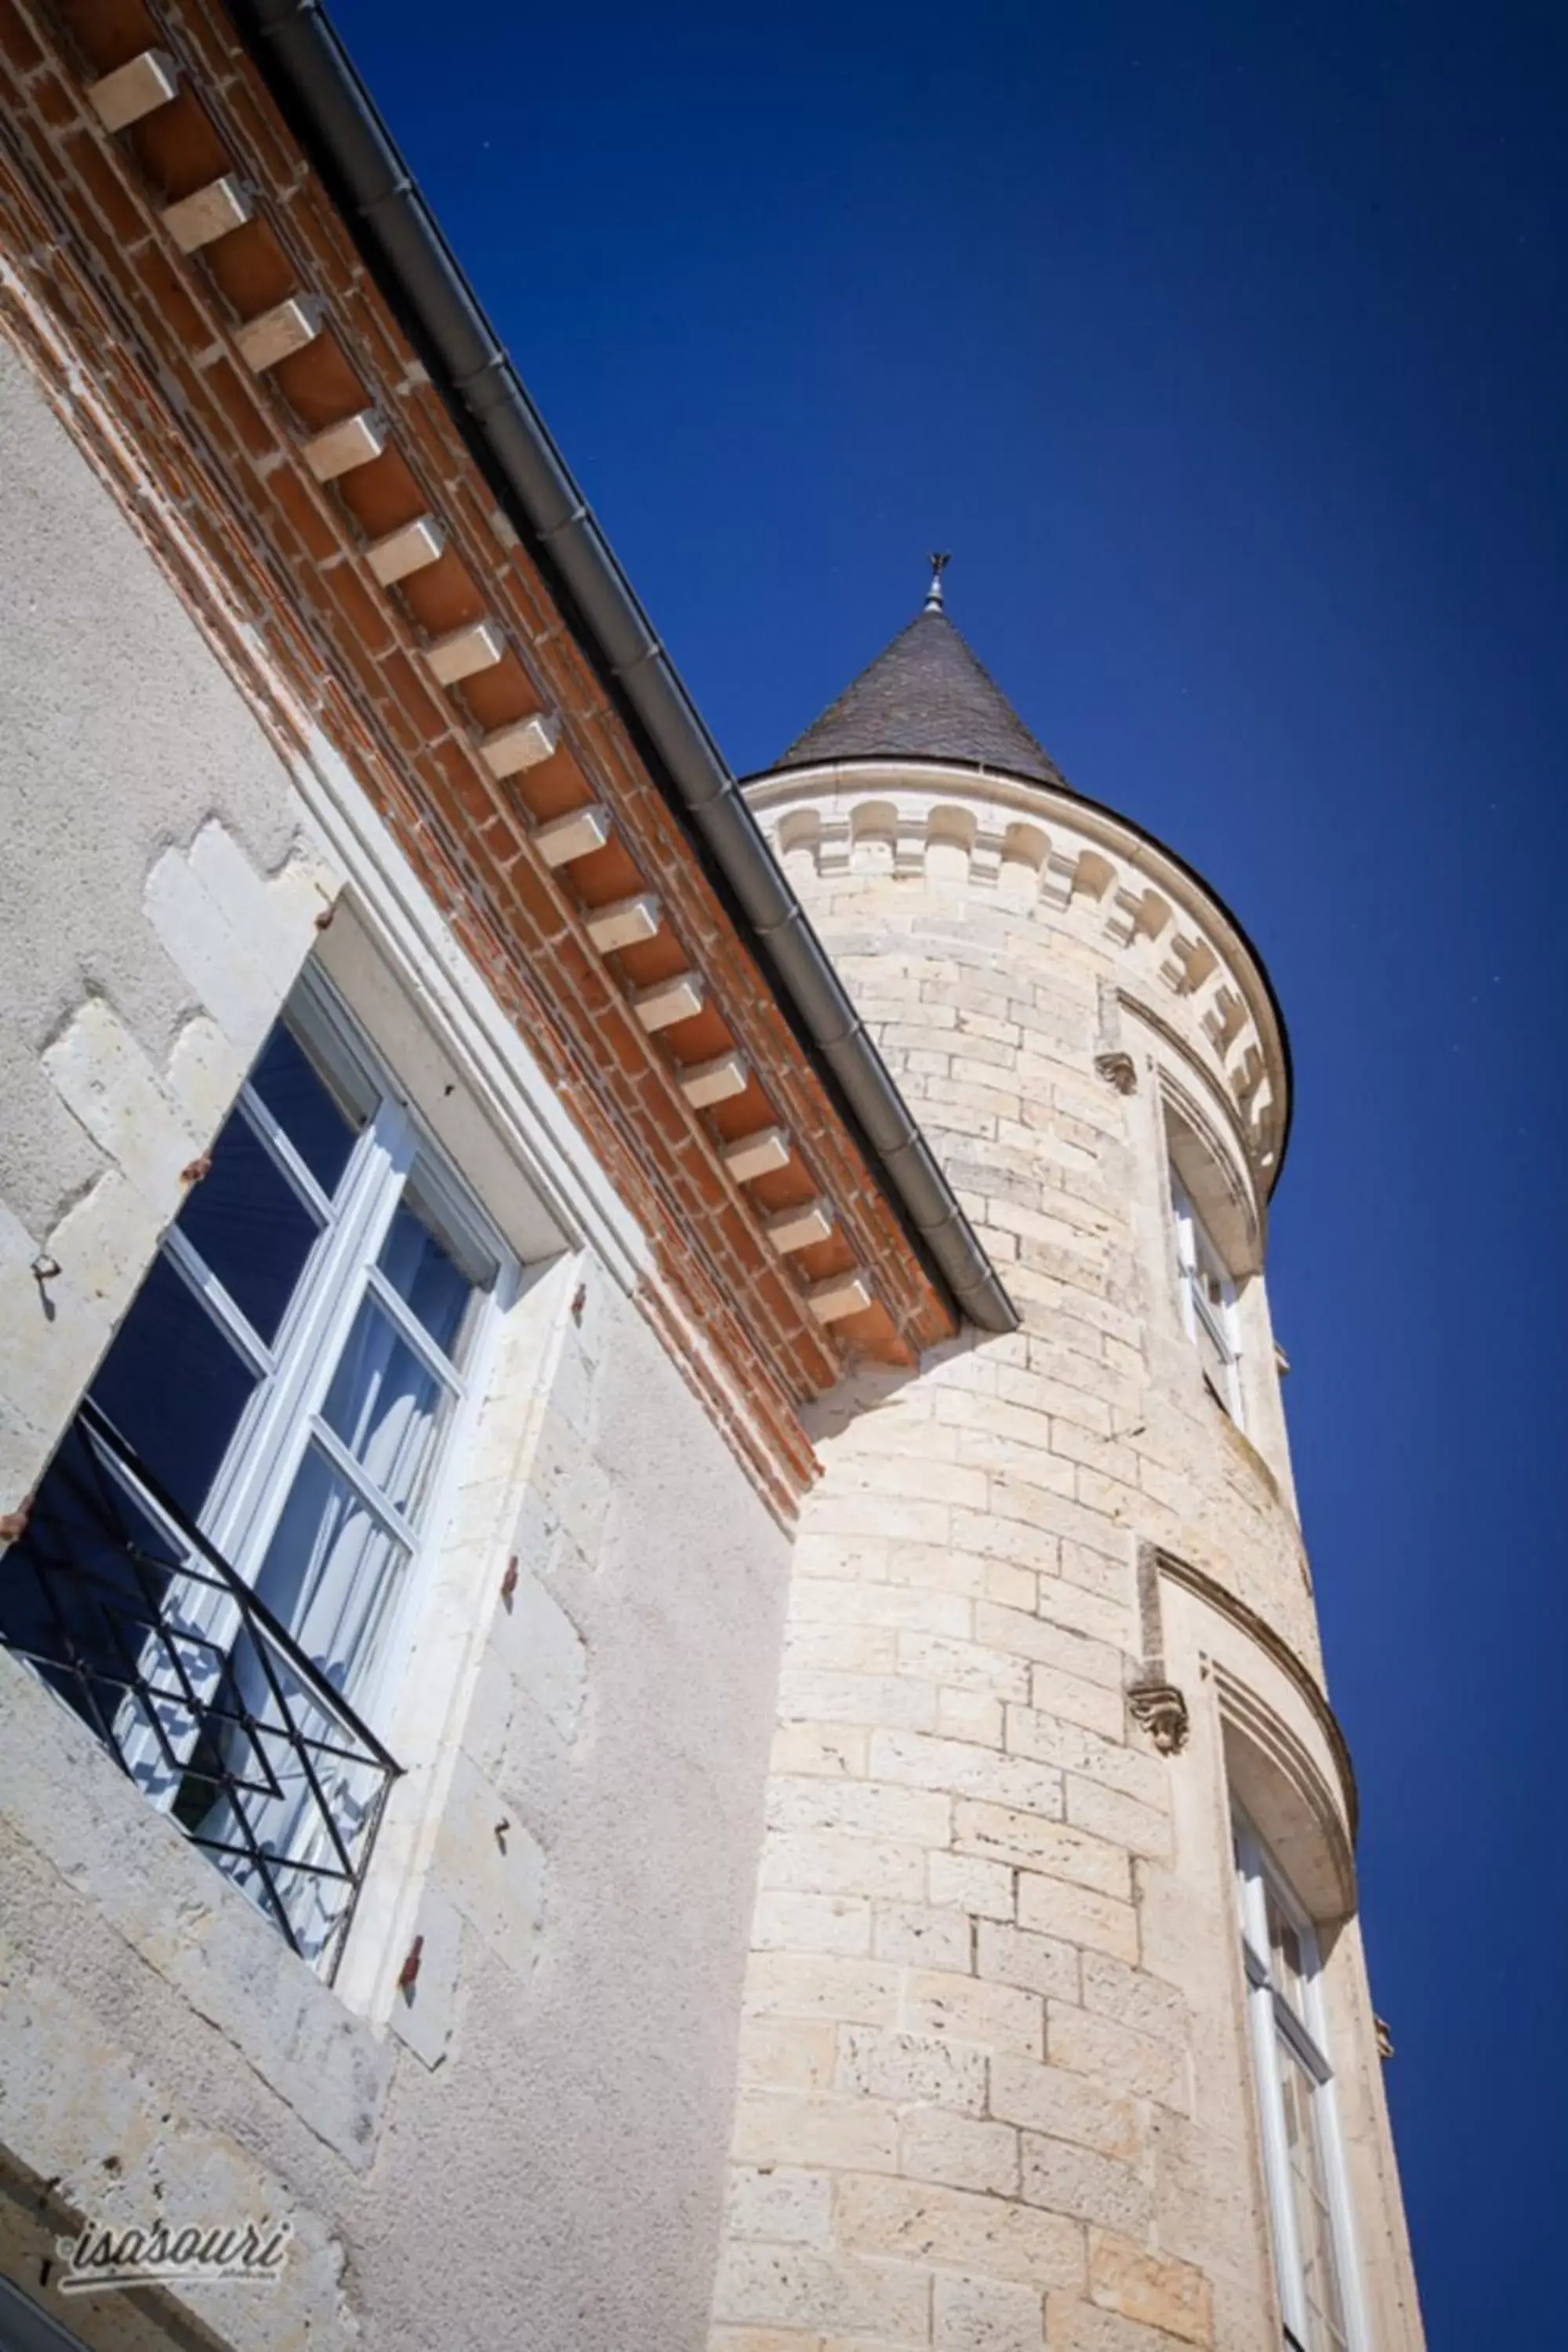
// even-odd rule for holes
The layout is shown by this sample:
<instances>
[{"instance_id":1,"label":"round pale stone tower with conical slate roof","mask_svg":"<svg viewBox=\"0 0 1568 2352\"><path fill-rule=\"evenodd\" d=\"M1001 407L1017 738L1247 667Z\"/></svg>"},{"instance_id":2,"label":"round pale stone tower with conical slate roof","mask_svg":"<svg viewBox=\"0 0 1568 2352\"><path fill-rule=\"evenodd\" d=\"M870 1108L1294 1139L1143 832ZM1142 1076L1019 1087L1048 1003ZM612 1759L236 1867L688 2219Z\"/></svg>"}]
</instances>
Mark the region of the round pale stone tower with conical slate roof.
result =
<instances>
[{"instance_id":1,"label":"round pale stone tower with conical slate roof","mask_svg":"<svg viewBox=\"0 0 1568 2352\"><path fill-rule=\"evenodd\" d=\"M1020 1322L816 1430L715 2347L1415 2352L1269 981L940 567L750 802Z\"/></svg>"}]
</instances>

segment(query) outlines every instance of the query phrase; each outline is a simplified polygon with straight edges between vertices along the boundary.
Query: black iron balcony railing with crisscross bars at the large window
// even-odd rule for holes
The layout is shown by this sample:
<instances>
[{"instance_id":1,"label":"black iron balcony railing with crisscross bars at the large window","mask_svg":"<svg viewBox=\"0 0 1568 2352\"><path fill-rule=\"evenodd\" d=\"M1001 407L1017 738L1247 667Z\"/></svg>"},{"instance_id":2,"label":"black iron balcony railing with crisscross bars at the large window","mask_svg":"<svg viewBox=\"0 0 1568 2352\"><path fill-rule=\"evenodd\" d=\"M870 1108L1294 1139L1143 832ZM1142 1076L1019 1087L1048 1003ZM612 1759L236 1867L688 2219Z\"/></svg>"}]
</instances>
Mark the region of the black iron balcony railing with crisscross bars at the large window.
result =
<instances>
[{"instance_id":1,"label":"black iron balcony railing with crisscross bars at the large window","mask_svg":"<svg viewBox=\"0 0 1568 2352\"><path fill-rule=\"evenodd\" d=\"M92 1402L0 1552L0 1644L331 1976L397 1764Z\"/></svg>"}]
</instances>

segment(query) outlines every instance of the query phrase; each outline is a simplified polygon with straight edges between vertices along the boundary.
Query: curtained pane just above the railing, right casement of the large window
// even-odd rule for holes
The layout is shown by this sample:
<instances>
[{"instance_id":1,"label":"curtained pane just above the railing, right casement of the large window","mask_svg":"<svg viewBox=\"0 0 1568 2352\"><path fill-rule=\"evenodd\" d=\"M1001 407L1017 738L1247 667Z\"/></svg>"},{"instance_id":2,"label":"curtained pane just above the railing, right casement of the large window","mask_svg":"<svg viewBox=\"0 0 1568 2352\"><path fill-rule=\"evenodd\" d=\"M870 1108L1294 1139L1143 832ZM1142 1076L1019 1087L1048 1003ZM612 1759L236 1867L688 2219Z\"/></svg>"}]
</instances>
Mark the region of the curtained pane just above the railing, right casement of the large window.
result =
<instances>
[{"instance_id":1,"label":"curtained pane just above the railing, right casement of the large window","mask_svg":"<svg viewBox=\"0 0 1568 2352\"><path fill-rule=\"evenodd\" d=\"M261 1562L256 1597L334 1691L348 1691L369 1665L404 1564L404 1548L324 1454L308 1446Z\"/></svg>"}]
</instances>

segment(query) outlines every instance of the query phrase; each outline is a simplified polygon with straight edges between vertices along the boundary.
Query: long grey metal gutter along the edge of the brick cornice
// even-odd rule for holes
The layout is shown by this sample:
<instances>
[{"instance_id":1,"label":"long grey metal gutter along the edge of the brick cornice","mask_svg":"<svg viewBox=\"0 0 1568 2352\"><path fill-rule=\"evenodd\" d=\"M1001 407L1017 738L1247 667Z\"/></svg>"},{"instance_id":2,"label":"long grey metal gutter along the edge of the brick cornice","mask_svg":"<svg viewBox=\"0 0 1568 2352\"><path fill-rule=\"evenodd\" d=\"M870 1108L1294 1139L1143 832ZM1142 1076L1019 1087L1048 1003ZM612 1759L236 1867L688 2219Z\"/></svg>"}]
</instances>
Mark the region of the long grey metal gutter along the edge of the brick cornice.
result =
<instances>
[{"instance_id":1,"label":"long grey metal gutter along the edge of the brick cornice","mask_svg":"<svg viewBox=\"0 0 1568 2352\"><path fill-rule=\"evenodd\" d=\"M1013 1301L324 9L317 0L228 7L512 522L564 590L656 781L755 934L785 1014L870 1145L893 1207L964 1315L983 1331L1016 1331Z\"/></svg>"}]
</instances>

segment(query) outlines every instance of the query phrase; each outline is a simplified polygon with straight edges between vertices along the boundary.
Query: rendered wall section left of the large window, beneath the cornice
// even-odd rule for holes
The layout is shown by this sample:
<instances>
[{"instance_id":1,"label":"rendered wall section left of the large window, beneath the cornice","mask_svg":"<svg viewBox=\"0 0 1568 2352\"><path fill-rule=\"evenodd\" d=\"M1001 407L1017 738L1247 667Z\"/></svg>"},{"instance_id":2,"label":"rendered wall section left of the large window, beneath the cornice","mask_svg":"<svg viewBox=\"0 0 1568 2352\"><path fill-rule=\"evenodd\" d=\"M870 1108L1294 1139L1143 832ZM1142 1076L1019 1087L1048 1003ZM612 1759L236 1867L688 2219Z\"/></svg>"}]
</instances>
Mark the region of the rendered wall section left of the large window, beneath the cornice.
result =
<instances>
[{"instance_id":1,"label":"rendered wall section left of the large window, beneath the cornice","mask_svg":"<svg viewBox=\"0 0 1568 2352\"><path fill-rule=\"evenodd\" d=\"M2 1512L54 1449L339 875L5 341L0 442ZM40 1254L61 1268L47 1287Z\"/></svg>"}]
</instances>

